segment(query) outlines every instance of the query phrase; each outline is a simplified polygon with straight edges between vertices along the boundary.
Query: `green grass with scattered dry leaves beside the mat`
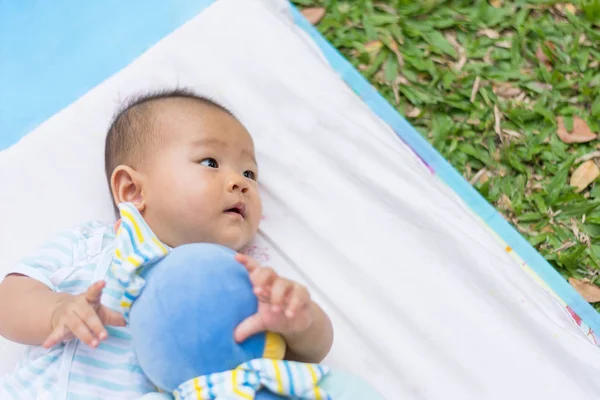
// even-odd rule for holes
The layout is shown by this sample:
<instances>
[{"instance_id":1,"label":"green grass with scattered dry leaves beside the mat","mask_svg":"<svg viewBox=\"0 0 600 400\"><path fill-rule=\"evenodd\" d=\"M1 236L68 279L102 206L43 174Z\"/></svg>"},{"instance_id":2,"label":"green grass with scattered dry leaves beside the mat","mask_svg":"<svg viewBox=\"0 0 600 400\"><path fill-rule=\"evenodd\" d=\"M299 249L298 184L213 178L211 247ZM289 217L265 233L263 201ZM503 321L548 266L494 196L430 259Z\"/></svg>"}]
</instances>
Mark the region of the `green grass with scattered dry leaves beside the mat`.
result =
<instances>
[{"instance_id":1,"label":"green grass with scattered dry leaves beside the mat","mask_svg":"<svg viewBox=\"0 0 600 400\"><path fill-rule=\"evenodd\" d=\"M600 184L569 186L600 142L556 135L600 133L600 0L295 3L565 278L600 284Z\"/></svg>"}]
</instances>

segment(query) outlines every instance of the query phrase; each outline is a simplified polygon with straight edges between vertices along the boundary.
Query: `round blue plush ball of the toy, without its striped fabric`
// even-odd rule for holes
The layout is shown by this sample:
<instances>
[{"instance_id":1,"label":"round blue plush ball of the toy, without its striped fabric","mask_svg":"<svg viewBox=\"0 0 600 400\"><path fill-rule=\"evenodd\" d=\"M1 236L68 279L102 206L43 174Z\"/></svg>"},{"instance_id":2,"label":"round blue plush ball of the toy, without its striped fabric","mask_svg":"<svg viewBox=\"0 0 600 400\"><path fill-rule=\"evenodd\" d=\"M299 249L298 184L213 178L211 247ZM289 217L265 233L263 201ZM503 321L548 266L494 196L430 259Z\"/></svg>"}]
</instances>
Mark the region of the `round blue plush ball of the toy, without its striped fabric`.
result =
<instances>
[{"instance_id":1,"label":"round blue plush ball of the toy, without its striped fabric","mask_svg":"<svg viewBox=\"0 0 600 400\"><path fill-rule=\"evenodd\" d=\"M262 333L238 344L237 325L257 311L248 272L235 252L189 244L142 273L146 280L129 315L140 366L161 390L173 393L194 378L233 370L259 358L281 359L279 335ZM260 390L256 399L281 399Z\"/></svg>"}]
</instances>

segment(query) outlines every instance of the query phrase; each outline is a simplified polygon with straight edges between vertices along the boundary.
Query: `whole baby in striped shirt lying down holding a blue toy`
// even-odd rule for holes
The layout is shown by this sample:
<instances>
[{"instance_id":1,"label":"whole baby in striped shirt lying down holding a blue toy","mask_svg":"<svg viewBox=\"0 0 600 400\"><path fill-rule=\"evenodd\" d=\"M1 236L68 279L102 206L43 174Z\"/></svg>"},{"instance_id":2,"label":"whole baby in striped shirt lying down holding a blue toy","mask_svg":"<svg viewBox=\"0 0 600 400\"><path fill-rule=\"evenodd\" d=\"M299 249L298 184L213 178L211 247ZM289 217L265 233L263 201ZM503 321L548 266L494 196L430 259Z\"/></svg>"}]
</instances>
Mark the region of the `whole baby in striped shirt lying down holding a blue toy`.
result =
<instances>
[{"instance_id":1,"label":"whole baby in striped shirt lying down holding a blue toy","mask_svg":"<svg viewBox=\"0 0 600 400\"><path fill-rule=\"evenodd\" d=\"M262 203L252 138L206 98L175 90L130 102L108 131L105 164L115 204L132 203L171 247L209 242L239 251L256 235ZM135 399L155 391L119 312L108 268L114 251L114 226L88 223L2 281L0 335L30 347L0 378L0 399ZM235 339L280 333L286 359L320 362L333 328L306 288L248 256L237 260L249 271L259 307Z\"/></svg>"}]
</instances>

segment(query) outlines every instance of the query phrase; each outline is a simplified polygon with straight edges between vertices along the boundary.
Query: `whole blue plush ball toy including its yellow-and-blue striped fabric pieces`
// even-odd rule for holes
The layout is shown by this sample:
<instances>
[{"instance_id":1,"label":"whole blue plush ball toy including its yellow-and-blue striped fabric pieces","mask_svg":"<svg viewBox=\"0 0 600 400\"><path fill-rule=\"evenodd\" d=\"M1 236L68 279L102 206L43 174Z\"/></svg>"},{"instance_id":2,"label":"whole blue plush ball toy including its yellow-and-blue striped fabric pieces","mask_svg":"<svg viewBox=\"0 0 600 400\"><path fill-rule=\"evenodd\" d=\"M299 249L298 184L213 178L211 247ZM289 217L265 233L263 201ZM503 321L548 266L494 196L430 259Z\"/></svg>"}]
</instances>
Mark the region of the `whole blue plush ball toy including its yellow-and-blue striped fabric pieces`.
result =
<instances>
[{"instance_id":1,"label":"whole blue plush ball toy including its yellow-and-blue striped fabric pieces","mask_svg":"<svg viewBox=\"0 0 600 400\"><path fill-rule=\"evenodd\" d=\"M119 210L111 271L140 367L162 392L143 400L381 399L352 375L282 361L279 334L236 343L235 328L256 314L258 299L235 252L207 243L169 249L133 204Z\"/></svg>"}]
</instances>

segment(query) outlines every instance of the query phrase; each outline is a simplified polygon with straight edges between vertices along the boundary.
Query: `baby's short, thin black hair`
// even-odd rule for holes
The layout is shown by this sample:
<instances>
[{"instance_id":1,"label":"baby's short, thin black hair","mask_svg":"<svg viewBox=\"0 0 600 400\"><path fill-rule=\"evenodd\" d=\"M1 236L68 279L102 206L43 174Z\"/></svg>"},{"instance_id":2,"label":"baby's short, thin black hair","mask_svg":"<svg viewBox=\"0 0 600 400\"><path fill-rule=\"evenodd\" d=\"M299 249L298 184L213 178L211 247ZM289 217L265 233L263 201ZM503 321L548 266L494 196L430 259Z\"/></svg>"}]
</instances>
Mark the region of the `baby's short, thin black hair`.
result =
<instances>
[{"instance_id":1,"label":"baby's short, thin black hair","mask_svg":"<svg viewBox=\"0 0 600 400\"><path fill-rule=\"evenodd\" d=\"M109 190L115 168L119 165L135 168L140 160L157 147L158 135L154 130L155 113L152 112L152 108L162 101L175 98L198 101L233 116L231 111L221 104L190 89L158 90L130 97L115 114L106 135L104 170Z\"/></svg>"}]
</instances>

